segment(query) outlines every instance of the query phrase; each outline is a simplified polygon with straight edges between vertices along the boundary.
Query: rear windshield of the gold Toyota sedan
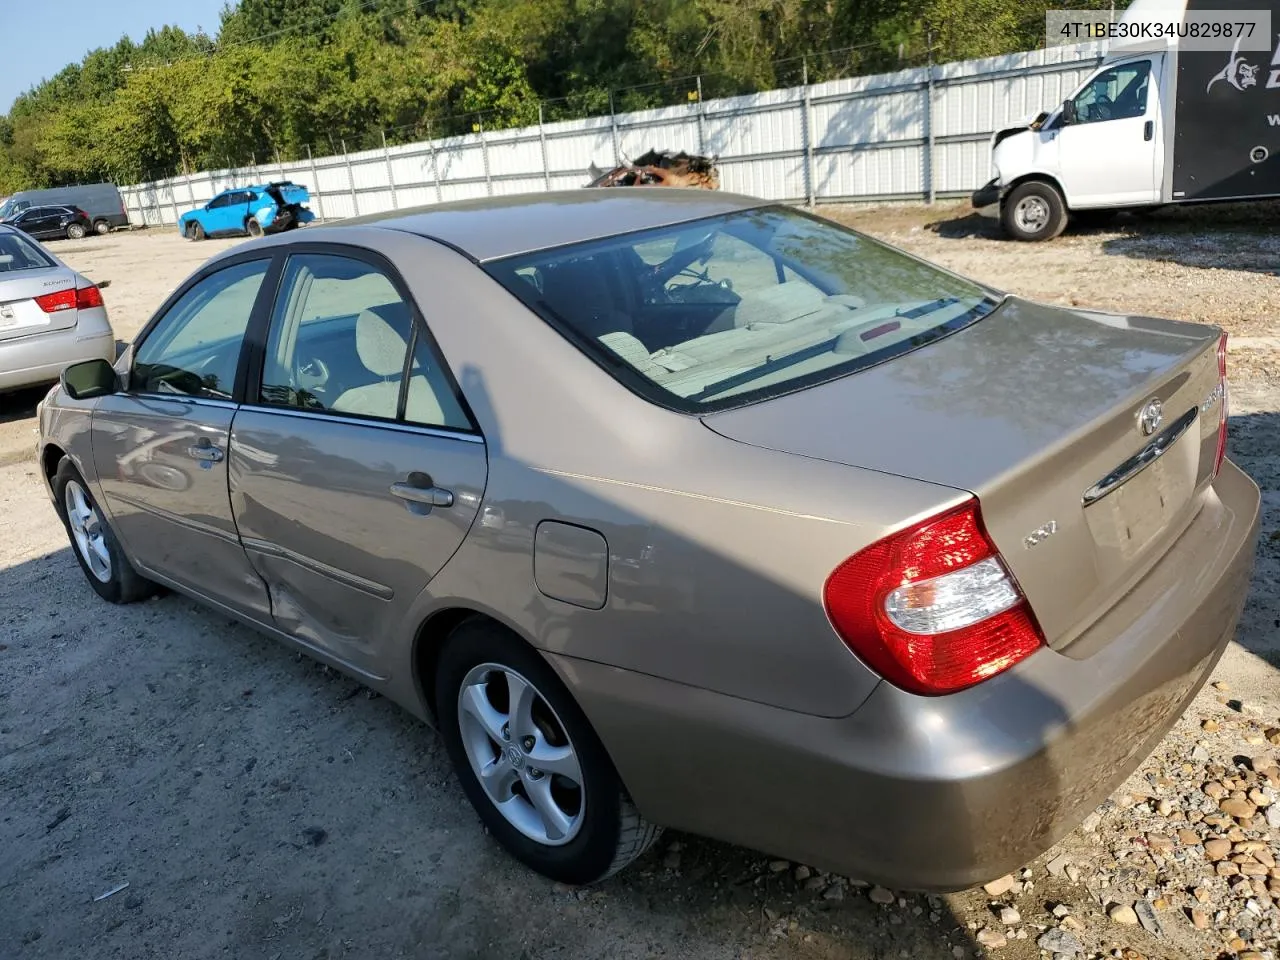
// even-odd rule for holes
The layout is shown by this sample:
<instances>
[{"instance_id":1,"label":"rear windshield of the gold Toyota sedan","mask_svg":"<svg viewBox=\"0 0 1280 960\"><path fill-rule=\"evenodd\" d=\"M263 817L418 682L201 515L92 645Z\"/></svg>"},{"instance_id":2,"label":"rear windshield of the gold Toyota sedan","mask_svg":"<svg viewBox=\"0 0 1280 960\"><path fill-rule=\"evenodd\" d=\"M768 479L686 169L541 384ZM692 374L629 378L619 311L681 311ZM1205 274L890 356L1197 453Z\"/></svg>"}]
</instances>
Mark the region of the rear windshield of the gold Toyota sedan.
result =
<instances>
[{"instance_id":1,"label":"rear windshield of the gold Toyota sedan","mask_svg":"<svg viewBox=\"0 0 1280 960\"><path fill-rule=\"evenodd\" d=\"M485 269L625 384L710 412L844 376L988 314L987 289L782 206Z\"/></svg>"}]
</instances>

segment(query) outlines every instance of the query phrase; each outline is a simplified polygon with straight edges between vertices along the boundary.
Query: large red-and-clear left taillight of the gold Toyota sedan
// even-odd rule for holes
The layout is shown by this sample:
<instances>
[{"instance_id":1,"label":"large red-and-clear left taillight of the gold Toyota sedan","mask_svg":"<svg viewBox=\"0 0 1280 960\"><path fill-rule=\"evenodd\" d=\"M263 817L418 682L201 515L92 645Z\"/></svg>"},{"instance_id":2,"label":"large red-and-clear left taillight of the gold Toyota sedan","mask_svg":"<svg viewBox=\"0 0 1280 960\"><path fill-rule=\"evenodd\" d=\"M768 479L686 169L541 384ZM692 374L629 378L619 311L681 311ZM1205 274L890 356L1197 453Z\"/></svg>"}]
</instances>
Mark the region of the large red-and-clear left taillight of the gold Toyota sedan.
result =
<instances>
[{"instance_id":1,"label":"large red-and-clear left taillight of the gold Toyota sedan","mask_svg":"<svg viewBox=\"0 0 1280 960\"><path fill-rule=\"evenodd\" d=\"M1044 643L977 499L850 557L823 600L849 648L915 694L973 686Z\"/></svg>"}]
</instances>

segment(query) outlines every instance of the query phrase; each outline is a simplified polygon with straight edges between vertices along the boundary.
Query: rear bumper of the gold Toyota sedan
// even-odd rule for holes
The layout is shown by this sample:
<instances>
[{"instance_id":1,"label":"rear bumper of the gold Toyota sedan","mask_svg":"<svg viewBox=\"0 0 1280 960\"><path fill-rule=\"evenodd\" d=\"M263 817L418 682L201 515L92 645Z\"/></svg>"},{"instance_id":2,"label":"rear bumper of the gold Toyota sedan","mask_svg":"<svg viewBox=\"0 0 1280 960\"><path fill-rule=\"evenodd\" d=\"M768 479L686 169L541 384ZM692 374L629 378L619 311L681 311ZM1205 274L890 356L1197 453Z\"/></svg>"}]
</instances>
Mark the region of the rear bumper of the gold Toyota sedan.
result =
<instances>
[{"instance_id":1,"label":"rear bumper of the gold Toyota sedan","mask_svg":"<svg viewBox=\"0 0 1280 960\"><path fill-rule=\"evenodd\" d=\"M650 819L899 890L961 890L1074 829L1156 746L1235 632L1257 486L1230 462L1093 630L970 690L881 684L827 719L552 657Z\"/></svg>"}]
</instances>

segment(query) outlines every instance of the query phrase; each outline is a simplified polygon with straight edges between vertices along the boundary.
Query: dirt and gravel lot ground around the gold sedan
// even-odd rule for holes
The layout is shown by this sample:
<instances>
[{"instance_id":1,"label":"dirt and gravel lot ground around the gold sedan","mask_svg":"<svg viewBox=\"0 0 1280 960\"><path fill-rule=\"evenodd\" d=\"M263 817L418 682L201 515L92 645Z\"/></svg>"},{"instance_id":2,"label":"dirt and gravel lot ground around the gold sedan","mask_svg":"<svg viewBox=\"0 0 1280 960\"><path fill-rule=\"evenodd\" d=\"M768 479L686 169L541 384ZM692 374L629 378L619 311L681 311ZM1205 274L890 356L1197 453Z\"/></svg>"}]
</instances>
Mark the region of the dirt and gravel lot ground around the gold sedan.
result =
<instances>
[{"instance_id":1,"label":"dirt and gravel lot ground around the gold sedan","mask_svg":"<svg viewBox=\"0 0 1280 960\"><path fill-rule=\"evenodd\" d=\"M1280 803L1216 823L1204 785L1280 792L1280 214L1024 246L960 206L824 212L1015 293L1233 334L1230 454L1266 509L1253 593L1222 689L1085 828L998 895L893 897L671 833L599 888L556 887L484 836L436 737L387 701L180 598L99 602L29 463L29 392L0 398L0 957L1275 960ZM128 339L232 243L52 248L111 280Z\"/></svg>"}]
</instances>

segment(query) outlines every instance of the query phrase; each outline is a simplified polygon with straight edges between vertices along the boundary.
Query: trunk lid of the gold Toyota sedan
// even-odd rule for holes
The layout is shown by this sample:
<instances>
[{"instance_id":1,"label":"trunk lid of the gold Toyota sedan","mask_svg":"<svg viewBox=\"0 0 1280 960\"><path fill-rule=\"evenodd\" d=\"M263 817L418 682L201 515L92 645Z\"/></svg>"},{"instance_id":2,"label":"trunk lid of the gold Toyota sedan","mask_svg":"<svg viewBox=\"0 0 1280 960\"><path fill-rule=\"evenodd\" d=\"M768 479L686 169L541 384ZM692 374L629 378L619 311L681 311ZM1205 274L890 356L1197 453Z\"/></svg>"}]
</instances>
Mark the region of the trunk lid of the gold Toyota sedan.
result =
<instances>
[{"instance_id":1,"label":"trunk lid of the gold Toyota sedan","mask_svg":"<svg viewBox=\"0 0 1280 960\"><path fill-rule=\"evenodd\" d=\"M1007 297L946 339L704 422L974 493L1046 639L1070 652L1206 495L1225 402L1217 339L1213 328ZM1144 433L1152 401L1162 419Z\"/></svg>"}]
</instances>

